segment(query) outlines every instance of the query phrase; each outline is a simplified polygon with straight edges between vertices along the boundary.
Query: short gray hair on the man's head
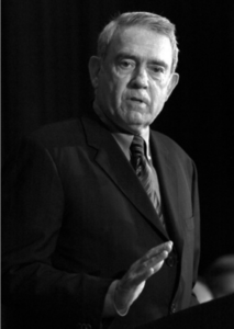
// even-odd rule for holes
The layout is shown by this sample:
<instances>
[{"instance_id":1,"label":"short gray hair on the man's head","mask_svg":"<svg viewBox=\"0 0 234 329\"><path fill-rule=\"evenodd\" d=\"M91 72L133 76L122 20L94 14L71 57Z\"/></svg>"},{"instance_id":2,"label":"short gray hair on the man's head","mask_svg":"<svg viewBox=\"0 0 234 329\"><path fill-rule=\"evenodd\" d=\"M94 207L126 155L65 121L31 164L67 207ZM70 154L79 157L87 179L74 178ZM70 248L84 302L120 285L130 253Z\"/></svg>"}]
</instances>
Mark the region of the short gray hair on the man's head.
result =
<instances>
[{"instance_id":1,"label":"short gray hair on the man's head","mask_svg":"<svg viewBox=\"0 0 234 329\"><path fill-rule=\"evenodd\" d=\"M152 31L166 35L172 47L172 66L174 72L178 64L178 43L176 39L176 26L166 18L149 12L126 12L113 19L100 33L98 38L98 56L105 58L109 45L114 34L122 27L145 26Z\"/></svg>"}]
</instances>

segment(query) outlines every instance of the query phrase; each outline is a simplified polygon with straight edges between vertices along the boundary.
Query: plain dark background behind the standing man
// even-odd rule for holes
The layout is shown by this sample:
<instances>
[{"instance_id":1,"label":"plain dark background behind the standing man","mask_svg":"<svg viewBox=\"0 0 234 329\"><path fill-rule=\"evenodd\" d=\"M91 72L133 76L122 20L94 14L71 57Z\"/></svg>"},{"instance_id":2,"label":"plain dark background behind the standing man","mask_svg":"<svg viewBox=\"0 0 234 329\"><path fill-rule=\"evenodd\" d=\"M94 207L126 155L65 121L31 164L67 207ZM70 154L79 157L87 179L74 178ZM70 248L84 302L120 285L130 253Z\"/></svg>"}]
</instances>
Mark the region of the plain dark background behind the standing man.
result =
<instances>
[{"instance_id":1,"label":"plain dark background behind the standing man","mask_svg":"<svg viewBox=\"0 0 234 329\"><path fill-rule=\"evenodd\" d=\"M98 33L124 11L177 25L180 83L153 127L197 163L202 274L234 253L234 1L3 0L2 162L22 135L86 111Z\"/></svg>"}]
</instances>

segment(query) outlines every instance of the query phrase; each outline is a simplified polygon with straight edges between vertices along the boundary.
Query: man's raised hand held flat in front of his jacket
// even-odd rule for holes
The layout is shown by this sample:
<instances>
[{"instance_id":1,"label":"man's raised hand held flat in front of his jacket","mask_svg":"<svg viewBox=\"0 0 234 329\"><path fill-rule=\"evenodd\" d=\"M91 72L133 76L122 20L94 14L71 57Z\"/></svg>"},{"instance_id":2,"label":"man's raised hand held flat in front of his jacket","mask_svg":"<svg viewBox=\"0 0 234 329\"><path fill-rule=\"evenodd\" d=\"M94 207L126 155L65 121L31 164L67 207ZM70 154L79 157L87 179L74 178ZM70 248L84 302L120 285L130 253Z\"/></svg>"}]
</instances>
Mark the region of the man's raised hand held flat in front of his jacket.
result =
<instances>
[{"instance_id":1,"label":"man's raised hand held flat in front of his jacket","mask_svg":"<svg viewBox=\"0 0 234 329\"><path fill-rule=\"evenodd\" d=\"M130 306L142 293L146 280L160 270L171 249L172 241L151 249L133 263L122 280L118 282L113 303L119 315L126 315Z\"/></svg>"}]
</instances>

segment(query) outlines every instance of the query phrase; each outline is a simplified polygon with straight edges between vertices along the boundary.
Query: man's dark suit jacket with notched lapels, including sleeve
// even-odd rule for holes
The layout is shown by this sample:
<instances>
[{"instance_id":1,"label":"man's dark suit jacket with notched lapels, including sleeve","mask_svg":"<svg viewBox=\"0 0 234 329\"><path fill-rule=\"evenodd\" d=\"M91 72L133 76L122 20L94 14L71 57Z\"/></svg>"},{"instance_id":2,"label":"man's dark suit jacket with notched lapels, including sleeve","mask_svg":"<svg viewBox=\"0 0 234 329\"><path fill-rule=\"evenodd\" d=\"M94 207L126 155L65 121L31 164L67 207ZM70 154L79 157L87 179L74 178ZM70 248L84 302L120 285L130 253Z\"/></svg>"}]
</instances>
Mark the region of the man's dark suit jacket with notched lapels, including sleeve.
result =
<instances>
[{"instance_id":1,"label":"man's dark suit jacket with notched lapels, including sleeve","mask_svg":"<svg viewBox=\"0 0 234 329\"><path fill-rule=\"evenodd\" d=\"M100 328L113 280L151 248L174 251L125 317L132 328L194 304L199 203L192 160L168 137L151 132L166 232L110 132L81 117L26 138L3 171L3 303L38 328ZM12 163L12 162L11 162ZM51 324L51 325L49 325ZM80 325L79 325L80 324ZM80 326L81 328L81 326Z\"/></svg>"}]
</instances>

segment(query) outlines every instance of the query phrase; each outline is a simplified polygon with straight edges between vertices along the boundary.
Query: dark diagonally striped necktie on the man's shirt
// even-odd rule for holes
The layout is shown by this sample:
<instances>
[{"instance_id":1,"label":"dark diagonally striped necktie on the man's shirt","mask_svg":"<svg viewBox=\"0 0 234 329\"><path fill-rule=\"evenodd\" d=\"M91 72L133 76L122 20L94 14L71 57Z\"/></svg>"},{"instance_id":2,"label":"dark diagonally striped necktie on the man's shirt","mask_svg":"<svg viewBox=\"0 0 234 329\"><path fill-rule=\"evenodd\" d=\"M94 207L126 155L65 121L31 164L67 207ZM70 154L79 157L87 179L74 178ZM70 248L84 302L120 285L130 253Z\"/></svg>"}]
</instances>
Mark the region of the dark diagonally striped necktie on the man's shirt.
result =
<instances>
[{"instance_id":1,"label":"dark diagonally striped necktie on the man's shirt","mask_svg":"<svg viewBox=\"0 0 234 329\"><path fill-rule=\"evenodd\" d=\"M148 163L145 157L145 141L141 136L134 136L133 141L130 146L131 150L131 163L142 185L144 186L146 193L148 194L161 223L164 224L164 218L161 214L161 207L159 204L159 198L156 192L156 185L158 184L156 173ZM165 224L164 224L165 226Z\"/></svg>"}]
</instances>

